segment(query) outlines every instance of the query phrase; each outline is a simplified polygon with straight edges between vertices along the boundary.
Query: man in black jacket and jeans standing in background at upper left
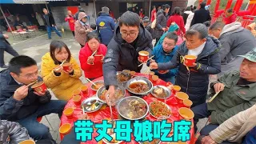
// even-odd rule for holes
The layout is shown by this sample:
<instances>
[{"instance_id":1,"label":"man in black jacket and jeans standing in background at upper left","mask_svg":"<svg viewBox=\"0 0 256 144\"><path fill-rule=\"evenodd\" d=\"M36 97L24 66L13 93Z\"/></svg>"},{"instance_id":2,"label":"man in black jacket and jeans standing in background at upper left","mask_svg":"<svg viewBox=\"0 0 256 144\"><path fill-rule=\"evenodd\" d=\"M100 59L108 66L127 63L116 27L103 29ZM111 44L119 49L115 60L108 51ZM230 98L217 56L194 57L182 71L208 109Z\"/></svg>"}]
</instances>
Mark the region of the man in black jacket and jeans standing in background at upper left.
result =
<instances>
[{"instance_id":1,"label":"man in black jacket and jeans standing in background at upper left","mask_svg":"<svg viewBox=\"0 0 256 144\"><path fill-rule=\"evenodd\" d=\"M60 34L58 32L58 30L56 29L56 25L54 22L54 17L48 12L48 10L46 10L46 8L42 9L44 15L43 15L43 20L46 24L46 30L48 33L48 38L51 39L51 30L54 30L56 34L58 34L59 38L62 38L62 34Z\"/></svg>"}]
</instances>

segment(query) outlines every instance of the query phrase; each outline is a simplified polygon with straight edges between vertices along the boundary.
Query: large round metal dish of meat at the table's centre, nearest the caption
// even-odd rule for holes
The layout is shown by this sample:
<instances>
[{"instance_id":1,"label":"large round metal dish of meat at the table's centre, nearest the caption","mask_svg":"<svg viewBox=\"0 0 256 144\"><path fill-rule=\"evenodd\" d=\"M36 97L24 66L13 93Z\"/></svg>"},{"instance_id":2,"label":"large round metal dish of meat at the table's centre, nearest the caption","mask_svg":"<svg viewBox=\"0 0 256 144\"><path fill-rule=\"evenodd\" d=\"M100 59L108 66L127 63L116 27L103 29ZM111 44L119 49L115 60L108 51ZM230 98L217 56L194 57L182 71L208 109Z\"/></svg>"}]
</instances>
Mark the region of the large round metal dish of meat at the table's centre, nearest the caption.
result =
<instances>
[{"instance_id":1,"label":"large round metal dish of meat at the table's centre, nearest the caption","mask_svg":"<svg viewBox=\"0 0 256 144\"><path fill-rule=\"evenodd\" d=\"M149 106L146 101L136 96L122 98L118 102L118 114L128 120L139 120L146 117Z\"/></svg>"}]
</instances>

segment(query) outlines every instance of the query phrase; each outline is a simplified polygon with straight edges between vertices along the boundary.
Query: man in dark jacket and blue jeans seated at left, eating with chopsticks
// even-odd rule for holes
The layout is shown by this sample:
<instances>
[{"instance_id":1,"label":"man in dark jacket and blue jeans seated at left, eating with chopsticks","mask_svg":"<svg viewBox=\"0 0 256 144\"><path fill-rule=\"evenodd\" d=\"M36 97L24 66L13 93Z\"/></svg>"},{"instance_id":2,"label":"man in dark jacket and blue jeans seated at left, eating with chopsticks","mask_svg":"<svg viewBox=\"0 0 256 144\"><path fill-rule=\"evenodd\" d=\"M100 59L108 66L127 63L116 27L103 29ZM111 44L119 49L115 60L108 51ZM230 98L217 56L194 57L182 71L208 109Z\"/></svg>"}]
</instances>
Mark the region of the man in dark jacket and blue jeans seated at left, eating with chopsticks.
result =
<instances>
[{"instance_id":1,"label":"man in dark jacket and blue jeans seated at left, eating with chopsticks","mask_svg":"<svg viewBox=\"0 0 256 144\"><path fill-rule=\"evenodd\" d=\"M52 139L49 128L37 118L51 113L60 117L66 102L50 100L47 90L32 90L28 85L35 80L42 81L42 78L38 77L33 58L21 55L10 60L9 68L0 72L0 119L18 122L36 140Z\"/></svg>"}]
</instances>

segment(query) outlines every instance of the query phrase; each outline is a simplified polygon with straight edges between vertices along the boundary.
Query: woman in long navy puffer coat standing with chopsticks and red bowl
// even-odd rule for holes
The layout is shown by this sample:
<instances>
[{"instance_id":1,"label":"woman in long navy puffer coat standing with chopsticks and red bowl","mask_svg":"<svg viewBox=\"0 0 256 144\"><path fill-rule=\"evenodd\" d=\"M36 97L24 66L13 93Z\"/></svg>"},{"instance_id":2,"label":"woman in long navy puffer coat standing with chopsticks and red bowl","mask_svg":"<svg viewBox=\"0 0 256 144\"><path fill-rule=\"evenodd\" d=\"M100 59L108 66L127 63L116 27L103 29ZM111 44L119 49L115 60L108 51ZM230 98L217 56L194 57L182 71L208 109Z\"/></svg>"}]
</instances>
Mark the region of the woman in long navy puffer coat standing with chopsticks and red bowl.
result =
<instances>
[{"instance_id":1,"label":"woman in long navy puffer coat standing with chopsticks and red bowl","mask_svg":"<svg viewBox=\"0 0 256 144\"><path fill-rule=\"evenodd\" d=\"M207 27L195 24L186 32L186 42L179 46L170 62L152 62L150 67L156 70L170 70L179 66L176 85L181 86L181 91L190 96L193 106L197 106L206 102L209 74L218 74L221 71L219 49L220 42L208 36ZM197 57L193 66L183 64L185 55Z\"/></svg>"}]
</instances>

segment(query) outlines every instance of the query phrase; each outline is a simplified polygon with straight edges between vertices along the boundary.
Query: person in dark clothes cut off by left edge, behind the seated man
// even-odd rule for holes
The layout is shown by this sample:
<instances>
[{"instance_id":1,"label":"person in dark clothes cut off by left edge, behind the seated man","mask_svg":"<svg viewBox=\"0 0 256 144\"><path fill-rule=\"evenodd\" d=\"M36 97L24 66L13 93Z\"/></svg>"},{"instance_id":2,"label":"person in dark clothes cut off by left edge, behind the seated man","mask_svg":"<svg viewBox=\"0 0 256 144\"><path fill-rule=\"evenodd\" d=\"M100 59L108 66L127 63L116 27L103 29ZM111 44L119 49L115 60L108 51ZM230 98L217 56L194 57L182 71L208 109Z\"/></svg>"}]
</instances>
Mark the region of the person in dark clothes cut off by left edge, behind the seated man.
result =
<instances>
[{"instance_id":1,"label":"person in dark clothes cut off by left edge, behind the seated man","mask_svg":"<svg viewBox=\"0 0 256 144\"><path fill-rule=\"evenodd\" d=\"M0 31L0 67L1 68L7 68L5 61L4 61L4 52L13 55L14 57L18 56L18 53L12 46L10 46L10 43L6 40L6 38L9 38L7 34L2 34L2 31Z\"/></svg>"}]
</instances>

